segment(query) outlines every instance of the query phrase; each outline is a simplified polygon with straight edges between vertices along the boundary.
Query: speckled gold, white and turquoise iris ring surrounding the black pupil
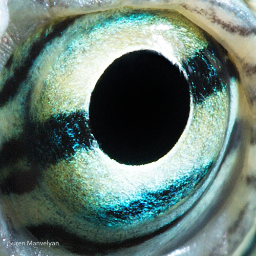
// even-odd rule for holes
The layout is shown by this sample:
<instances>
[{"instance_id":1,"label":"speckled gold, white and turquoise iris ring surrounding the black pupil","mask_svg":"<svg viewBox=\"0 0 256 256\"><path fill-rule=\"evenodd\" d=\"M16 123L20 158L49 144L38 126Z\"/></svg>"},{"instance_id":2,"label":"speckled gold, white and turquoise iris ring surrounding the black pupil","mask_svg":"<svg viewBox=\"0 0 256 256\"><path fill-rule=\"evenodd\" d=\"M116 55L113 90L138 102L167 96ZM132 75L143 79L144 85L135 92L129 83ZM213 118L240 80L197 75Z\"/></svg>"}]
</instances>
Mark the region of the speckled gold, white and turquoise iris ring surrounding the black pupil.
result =
<instances>
[{"instance_id":1,"label":"speckled gold, white and turquoise iris ring surrounding the black pupil","mask_svg":"<svg viewBox=\"0 0 256 256\"><path fill-rule=\"evenodd\" d=\"M56 25L40 31L57 36L43 45L24 85L32 89L28 117L36 123L30 124L35 130L31 151L36 141L34 158L44 169L39 190L20 196L11 193L10 199L25 226L61 225L93 242L120 242L153 232L184 214L210 183L206 178L223 147L229 117L231 77L225 60L217 58L199 28L176 12L124 9L70 23L67 29L57 26L63 28L59 34L54 32ZM36 44L42 37L38 33L28 42ZM24 47L15 52L13 59L17 56L18 61L10 70L26 59L30 50ZM103 71L121 55L141 49L157 51L180 67L190 85L190 114L181 138L167 155L130 166L100 150L87 113ZM83 114L73 121L71 113L78 112ZM37 135L38 129L43 133ZM88 142L82 143L84 139ZM65 153L70 152L68 147L73 147L71 155ZM37 199L32 203L31 197Z\"/></svg>"}]
</instances>

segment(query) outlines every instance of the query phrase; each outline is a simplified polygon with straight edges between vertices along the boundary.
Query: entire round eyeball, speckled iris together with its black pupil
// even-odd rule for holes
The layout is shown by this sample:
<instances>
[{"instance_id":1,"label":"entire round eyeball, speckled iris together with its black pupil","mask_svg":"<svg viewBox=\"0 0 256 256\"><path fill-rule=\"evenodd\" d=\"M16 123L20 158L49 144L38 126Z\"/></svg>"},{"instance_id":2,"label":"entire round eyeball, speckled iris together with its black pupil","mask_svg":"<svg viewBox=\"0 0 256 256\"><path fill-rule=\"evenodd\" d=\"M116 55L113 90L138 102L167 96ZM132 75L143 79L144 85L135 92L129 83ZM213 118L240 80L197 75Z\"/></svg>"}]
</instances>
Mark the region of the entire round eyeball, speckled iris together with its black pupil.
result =
<instances>
[{"instance_id":1,"label":"entire round eyeball, speckled iris together with its black pupil","mask_svg":"<svg viewBox=\"0 0 256 256\"><path fill-rule=\"evenodd\" d=\"M61 230L107 248L176 223L218 172L233 125L231 66L175 11L95 13L32 35L1 76L18 81L3 87L1 111L23 108L0 152L1 189L21 225L69 249Z\"/></svg>"}]
</instances>

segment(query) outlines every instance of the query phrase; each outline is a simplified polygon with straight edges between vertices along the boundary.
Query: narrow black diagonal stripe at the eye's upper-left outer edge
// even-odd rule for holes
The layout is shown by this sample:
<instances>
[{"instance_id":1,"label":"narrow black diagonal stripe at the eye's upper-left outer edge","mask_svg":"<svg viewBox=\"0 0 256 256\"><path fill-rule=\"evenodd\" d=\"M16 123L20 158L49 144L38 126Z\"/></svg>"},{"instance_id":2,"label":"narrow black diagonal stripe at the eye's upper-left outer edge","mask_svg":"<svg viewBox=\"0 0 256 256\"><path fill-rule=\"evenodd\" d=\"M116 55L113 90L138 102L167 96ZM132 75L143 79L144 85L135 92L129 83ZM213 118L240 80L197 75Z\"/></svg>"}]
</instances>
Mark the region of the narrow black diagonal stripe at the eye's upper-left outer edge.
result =
<instances>
[{"instance_id":1,"label":"narrow black diagonal stripe at the eye's upper-left outer edge","mask_svg":"<svg viewBox=\"0 0 256 256\"><path fill-rule=\"evenodd\" d=\"M60 37L62 32L65 31L76 18L77 17L67 18L63 22L57 23L53 26L53 31L49 34L47 34L48 27L46 27L45 31L40 35L40 38L38 38L31 46L28 58L24 60L23 65L16 68L13 76L6 81L2 91L0 92L0 107L6 104L8 100L17 94L22 82L27 78L34 60L38 57L46 44L55 37ZM12 61L15 61L13 55L11 55L10 59L7 61L7 68L11 67Z\"/></svg>"}]
</instances>

